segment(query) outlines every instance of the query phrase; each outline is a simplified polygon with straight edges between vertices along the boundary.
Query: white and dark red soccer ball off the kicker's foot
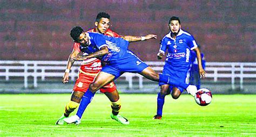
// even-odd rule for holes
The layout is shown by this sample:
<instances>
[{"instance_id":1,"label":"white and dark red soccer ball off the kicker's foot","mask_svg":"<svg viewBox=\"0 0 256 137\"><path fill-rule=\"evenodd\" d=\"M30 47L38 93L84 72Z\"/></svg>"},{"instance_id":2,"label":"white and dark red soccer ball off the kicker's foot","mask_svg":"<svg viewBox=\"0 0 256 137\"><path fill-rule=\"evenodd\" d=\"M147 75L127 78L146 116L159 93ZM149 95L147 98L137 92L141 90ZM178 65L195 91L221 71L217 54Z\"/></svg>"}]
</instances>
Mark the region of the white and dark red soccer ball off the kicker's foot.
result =
<instances>
[{"instance_id":1,"label":"white and dark red soccer ball off the kicker's foot","mask_svg":"<svg viewBox=\"0 0 256 137\"><path fill-rule=\"evenodd\" d=\"M212 92L206 88L197 90L194 100L200 106L206 106L212 102Z\"/></svg>"}]
</instances>

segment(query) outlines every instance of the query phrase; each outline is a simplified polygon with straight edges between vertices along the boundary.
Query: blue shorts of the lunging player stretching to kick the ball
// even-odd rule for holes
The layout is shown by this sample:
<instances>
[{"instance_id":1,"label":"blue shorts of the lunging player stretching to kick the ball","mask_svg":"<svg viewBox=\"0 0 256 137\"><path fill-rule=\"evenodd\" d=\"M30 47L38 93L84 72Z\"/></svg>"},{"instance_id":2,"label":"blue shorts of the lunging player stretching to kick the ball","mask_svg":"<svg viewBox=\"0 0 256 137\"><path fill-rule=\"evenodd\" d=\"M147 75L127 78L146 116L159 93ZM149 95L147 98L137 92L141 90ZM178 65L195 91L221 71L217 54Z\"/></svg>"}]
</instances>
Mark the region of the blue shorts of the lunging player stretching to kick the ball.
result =
<instances>
[{"instance_id":1,"label":"blue shorts of the lunging player stretching to kick the ball","mask_svg":"<svg viewBox=\"0 0 256 137\"><path fill-rule=\"evenodd\" d=\"M125 59L110 62L102 68L102 71L114 75L114 80L116 80L123 73L141 73L147 67L149 66L140 60L139 57L134 54L128 54Z\"/></svg>"}]
</instances>

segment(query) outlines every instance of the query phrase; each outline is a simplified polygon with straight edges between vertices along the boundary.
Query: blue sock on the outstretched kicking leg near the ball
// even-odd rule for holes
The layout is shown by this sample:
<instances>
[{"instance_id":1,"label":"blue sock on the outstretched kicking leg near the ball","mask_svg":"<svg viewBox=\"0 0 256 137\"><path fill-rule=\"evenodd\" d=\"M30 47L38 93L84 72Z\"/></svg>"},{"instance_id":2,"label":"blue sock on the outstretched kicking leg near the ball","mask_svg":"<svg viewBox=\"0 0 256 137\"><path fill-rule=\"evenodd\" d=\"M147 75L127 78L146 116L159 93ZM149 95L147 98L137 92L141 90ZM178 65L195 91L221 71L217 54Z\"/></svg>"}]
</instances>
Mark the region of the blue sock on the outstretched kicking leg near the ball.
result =
<instances>
[{"instance_id":1,"label":"blue sock on the outstretched kicking leg near the ball","mask_svg":"<svg viewBox=\"0 0 256 137\"><path fill-rule=\"evenodd\" d=\"M165 74L159 74L159 82L180 86L183 89L187 89L187 86L188 86L188 84L186 84L185 82L181 82L180 80L177 80L177 78L170 77L169 75L165 75Z\"/></svg>"}]
</instances>

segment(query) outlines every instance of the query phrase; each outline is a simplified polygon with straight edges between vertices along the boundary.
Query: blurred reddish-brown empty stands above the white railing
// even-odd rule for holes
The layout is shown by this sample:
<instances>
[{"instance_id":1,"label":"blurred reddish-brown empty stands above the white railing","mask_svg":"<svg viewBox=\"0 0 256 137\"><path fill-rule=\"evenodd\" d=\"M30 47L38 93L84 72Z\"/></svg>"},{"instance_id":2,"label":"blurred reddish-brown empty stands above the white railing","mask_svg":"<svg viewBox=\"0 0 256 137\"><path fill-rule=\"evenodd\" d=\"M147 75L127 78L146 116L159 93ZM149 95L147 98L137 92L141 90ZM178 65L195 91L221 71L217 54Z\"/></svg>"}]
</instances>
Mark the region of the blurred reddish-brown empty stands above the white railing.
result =
<instances>
[{"instance_id":1,"label":"blurred reddish-brown empty stands above the white railing","mask_svg":"<svg viewBox=\"0 0 256 137\"><path fill-rule=\"evenodd\" d=\"M97 13L105 11L110 28L119 34L158 35L157 40L130 44L144 61L157 61L169 18L177 16L208 62L255 62L255 7L248 0L0 0L0 60L67 60L71 28L89 30Z\"/></svg>"}]
</instances>

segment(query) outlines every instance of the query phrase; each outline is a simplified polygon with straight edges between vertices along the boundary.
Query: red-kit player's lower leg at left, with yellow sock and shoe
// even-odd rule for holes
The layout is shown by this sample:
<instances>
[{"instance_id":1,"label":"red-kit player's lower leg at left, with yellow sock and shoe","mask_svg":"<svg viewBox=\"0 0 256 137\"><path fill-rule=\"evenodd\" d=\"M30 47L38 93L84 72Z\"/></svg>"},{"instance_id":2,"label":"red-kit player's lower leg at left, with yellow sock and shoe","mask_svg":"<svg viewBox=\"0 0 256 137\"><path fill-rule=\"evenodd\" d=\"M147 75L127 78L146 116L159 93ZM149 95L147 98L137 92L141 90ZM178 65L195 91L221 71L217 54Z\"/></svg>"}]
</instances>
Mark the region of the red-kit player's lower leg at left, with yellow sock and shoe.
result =
<instances>
[{"instance_id":1,"label":"red-kit player's lower leg at left, with yellow sock and shoe","mask_svg":"<svg viewBox=\"0 0 256 137\"><path fill-rule=\"evenodd\" d=\"M64 119L69 117L69 114L73 112L80 103L80 100L82 96L84 95L84 92L80 91L73 91L71 95L71 99L68 104L65 106L64 114L56 121L56 125L63 125Z\"/></svg>"}]
</instances>

